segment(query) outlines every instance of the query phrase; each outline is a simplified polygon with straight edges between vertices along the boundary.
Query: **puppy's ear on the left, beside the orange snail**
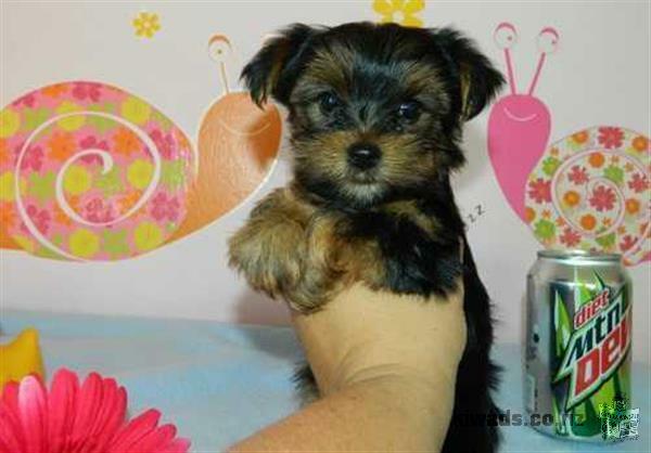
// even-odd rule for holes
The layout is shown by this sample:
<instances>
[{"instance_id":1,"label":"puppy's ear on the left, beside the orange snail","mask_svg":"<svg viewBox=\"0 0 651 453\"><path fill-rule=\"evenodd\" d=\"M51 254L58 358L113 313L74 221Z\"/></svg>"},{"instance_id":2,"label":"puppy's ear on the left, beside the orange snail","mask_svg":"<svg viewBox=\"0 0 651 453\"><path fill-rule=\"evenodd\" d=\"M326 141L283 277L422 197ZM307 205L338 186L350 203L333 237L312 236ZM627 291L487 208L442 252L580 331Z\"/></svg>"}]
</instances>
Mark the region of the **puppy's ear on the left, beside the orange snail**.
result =
<instances>
[{"instance_id":1,"label":"puppy's ear on the left, beside the orange snail","mask_svg":"<svg viewBox=\"0 0 651 453\"><path fill-rule=\"evenodd\" d=\"M241 79L251 92L251 99L261 105L269 96L282 104L302 67L311 38L319 30L304 24L294 24L268 39L242 70Z\"/></svg>"}]
</instances>

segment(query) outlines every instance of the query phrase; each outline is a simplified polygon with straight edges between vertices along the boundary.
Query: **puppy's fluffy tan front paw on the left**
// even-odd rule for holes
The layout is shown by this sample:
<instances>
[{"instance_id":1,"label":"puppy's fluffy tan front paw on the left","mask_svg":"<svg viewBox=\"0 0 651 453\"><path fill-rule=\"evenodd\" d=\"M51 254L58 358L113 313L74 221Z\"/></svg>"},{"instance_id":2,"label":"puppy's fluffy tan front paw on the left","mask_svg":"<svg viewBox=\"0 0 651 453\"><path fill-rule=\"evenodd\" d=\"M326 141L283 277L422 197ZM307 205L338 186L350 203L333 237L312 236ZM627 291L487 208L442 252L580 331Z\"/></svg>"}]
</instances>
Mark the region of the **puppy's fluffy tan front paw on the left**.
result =
<instances>
[{"instance_id":1,"label":"puppy's fluffy tan front paw on the left","mask_svg":"<svg viewBox=\"0 0 651 453\"><path fill-rule=\"evenodd\" d=\"M286 298L305 269L306 229L312 212L290 189L276 190L231 237L230 266L244 274L254 289Z\"/></svg>"}]
</instances>

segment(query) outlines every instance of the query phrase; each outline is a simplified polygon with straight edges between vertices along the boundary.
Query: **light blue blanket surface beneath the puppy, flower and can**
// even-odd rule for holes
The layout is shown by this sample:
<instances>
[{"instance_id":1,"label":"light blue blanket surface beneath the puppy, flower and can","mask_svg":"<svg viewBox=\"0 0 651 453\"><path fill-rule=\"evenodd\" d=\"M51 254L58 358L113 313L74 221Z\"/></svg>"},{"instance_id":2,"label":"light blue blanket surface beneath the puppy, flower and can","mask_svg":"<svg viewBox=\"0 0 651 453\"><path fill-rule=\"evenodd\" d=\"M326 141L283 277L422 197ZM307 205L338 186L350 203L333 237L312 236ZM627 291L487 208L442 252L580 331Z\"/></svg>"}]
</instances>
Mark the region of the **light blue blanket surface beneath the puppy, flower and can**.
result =
<instances>
[{"instance_id":1,"label":"light blue blanket surface beneath the puppy, flower and can","mask_svg":"<svg viewBox=\"0 0 651 453\"><path fill-rule=\"evenodd\" d=\"M3 311L0 326L3 341L27 326L38 328L50 373L65 366L115 377L128 390L131 414L159 409L192 440L194 452L224 451L298 407L289 377L302 352L286 327L23 311ZM496 360L505 366L498 402L522 413L520 347L498 345ZM505 426L501 451L649 452L650 378L649 365L635 362L637 440L601 446Z\"/></svg>"}]
</instances>

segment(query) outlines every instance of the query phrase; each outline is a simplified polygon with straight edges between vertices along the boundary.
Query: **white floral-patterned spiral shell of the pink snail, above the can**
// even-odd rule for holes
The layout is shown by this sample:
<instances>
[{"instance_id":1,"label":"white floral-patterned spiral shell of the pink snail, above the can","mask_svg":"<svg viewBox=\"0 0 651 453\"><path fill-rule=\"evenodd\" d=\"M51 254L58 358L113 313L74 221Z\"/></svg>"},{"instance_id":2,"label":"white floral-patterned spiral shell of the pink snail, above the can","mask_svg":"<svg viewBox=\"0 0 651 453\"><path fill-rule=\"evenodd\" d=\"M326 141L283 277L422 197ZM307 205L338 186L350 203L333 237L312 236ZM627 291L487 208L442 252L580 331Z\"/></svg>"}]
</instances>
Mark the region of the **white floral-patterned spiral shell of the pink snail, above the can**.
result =
<instances>
[{"instance_id":1,"label":"white floral-patterned spiral shell of the pink snail, above the can","mask_svg":"<svg viewBox=\"0 0 651 453\"><path fill-rule=\"evenodd\" d=\"M649 139L599 126L552 144L527 180L525 217L548 248L651 259Z\"/></svg>"}]
</instances>

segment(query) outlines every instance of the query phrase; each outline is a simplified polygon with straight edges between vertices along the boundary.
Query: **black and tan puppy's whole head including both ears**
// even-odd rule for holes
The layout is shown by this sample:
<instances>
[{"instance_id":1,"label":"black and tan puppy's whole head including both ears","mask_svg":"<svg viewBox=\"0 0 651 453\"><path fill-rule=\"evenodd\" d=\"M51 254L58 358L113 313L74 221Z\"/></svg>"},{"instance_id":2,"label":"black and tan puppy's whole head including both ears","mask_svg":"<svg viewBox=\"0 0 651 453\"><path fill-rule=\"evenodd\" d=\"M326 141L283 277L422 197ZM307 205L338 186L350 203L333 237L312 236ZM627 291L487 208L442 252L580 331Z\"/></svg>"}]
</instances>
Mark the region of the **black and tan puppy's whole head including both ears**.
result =
<instances>
[{"instance_id":1,"label":"black and tan puppy's whole head including both ears","mask_svg":"<svg viewBox=\"0 0 651 453\"><path fill-rule=\"evenodd\" d=\"M463 164L461 125L502 82L456 31L368 23L290 27L243 78L289 108L301 186L352 208L422 196Z\"/></svg>"}]
</instances>

